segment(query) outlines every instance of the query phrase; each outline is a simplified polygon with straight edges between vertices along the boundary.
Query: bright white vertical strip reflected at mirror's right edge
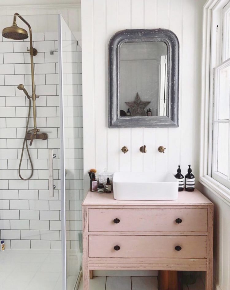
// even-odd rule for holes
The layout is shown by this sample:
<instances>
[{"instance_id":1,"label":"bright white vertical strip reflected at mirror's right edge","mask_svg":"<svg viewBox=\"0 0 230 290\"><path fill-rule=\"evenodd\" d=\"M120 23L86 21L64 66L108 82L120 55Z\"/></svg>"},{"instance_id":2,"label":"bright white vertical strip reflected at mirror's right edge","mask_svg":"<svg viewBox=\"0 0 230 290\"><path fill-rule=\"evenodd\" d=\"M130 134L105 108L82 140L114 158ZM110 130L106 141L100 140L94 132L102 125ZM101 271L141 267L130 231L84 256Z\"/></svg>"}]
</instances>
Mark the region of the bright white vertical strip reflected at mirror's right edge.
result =
<instances>
[{"instance_id":1,"label":"bright white vertical strip reflected at mirror's right edge","mask_svg":"<svg viewBox=\"0 0 230 290\"><path fill-rule=\"evenodd\" d=\"M167 55L162 55L159 70L159 116L167 115Z\"/></svg>"}]
</instances>

